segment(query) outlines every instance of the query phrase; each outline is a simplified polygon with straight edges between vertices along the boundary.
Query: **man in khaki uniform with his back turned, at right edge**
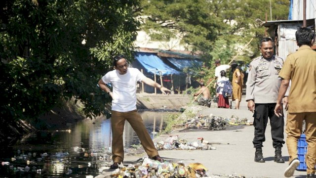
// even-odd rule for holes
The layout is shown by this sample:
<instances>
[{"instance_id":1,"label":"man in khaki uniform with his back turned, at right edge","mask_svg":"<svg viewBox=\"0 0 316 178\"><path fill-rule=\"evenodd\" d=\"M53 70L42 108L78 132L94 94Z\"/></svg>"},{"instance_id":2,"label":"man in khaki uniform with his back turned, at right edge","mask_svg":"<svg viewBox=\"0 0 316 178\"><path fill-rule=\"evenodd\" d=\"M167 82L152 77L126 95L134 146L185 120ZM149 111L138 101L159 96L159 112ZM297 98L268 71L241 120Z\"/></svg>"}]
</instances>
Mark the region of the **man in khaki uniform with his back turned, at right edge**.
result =
<instances>
[{"instance_id":1,"label":"man in khaki uniform with his back turned, at right edge","mask_svg":"<svg viewBox=\"0 0 316 178\"><path fill-rule=\"evenodd\" d=\"M295 33L298 51L288 55L279 73L283 79L275 107L277 116L282 117L281 100L291 80L286 119L286 145L290 155L289 167L284 176L293 176L300 164L297 159L297 139L302 134L303 120L306 123L307 178L315 178L316 164L316 51L312 50L314 32L309 28L300 28Z\"/></svg>"}]
</instances>

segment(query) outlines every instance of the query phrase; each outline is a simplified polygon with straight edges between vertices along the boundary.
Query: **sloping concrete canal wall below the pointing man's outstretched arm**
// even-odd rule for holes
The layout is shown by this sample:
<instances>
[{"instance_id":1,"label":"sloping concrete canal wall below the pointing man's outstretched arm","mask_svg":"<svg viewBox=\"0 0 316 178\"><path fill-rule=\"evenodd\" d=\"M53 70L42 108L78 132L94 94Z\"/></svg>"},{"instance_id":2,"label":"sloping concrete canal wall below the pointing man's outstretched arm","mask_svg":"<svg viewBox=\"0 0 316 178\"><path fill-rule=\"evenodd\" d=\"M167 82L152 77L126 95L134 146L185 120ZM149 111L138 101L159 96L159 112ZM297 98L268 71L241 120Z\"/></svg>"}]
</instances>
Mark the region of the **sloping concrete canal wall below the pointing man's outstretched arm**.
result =
<instances>
[{"instance_id":1,"label":"sloping concrete canal wall below the pointing man's outstretched arm","mask_svg":"<svg viewBox=\"0 0 316 178\"><path fill-rule=\"evenodd\" d=\"M179 109L191 104L192 96L188 94L152 94L137 93L137 109Z\"/></svg>"}]
</instances>

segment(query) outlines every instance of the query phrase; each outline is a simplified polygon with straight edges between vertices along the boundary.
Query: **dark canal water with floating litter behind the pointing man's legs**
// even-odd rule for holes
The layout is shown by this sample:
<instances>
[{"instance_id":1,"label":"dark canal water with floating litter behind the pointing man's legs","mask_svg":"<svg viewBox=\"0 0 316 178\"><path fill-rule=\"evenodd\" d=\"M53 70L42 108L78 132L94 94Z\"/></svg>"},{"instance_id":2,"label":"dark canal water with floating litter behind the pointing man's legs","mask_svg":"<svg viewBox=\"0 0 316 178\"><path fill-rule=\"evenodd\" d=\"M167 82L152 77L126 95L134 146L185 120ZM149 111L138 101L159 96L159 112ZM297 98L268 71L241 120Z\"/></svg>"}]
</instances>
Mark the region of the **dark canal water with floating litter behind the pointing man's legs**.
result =
<instances>
[{"instance_id":1,"label":"dark canal water with floating litter behind the pointing man's legs","mask_svg":"<svg viewBox=\"0 0 316 178\"><path fill-rule=\"evenodd\" d=\"M164 128L163 118L177 112L139 112L154 138ZM0 178L88 178L112 164L111 120L86 119L67 129L37 131L9 146L0 155ZM123 142L125 152L140 146L128 122Z\"/></svg>"}]
</instances>

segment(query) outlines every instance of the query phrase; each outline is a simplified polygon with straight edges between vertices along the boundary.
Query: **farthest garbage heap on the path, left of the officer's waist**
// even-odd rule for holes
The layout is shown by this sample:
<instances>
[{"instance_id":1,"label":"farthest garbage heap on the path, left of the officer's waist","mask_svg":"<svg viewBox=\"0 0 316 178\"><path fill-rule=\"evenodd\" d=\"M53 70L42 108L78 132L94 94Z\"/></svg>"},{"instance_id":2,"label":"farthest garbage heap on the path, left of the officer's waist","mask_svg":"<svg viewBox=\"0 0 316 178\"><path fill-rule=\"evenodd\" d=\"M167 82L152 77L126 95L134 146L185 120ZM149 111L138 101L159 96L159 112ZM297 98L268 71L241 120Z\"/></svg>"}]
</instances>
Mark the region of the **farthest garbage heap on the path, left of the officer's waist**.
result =
<instances>
[{"instance_id":1,"label":"farthest garbage heap on the path, left of the officer's waist","mask_svg":"<svg viewBox=\"0 0 316 178\"><path fill-rule=\"evenodd\" d=\"M236 116L228 117L218 117L218 116L203 116L199 115L193 117L192 119L187 120L185 123L186 129L207 129L212 131L221 131L225 130L225 127L229 125L237 126L237 125L247 125L249 121L244 119L239 119Z\"/></svg>"}]
</instances>

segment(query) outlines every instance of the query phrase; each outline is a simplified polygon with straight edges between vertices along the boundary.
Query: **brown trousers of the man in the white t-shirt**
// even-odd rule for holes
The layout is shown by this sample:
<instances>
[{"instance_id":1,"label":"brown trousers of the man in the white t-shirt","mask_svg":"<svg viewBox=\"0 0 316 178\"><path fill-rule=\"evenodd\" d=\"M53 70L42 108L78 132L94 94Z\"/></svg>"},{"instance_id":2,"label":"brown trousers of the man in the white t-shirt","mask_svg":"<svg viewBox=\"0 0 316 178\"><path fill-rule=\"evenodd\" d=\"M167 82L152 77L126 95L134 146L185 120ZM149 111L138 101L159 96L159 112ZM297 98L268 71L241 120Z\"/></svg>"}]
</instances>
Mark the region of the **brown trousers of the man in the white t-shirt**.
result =
<instances>
[{"instance_id":1,"label":"brown trousers of the man in the white t-shirt","mask_svg":"<svg viewBox=\"0 0 316 178\"><path fill-rule=\"evenodd\" d=\"M155 144L145 128L144 122L137 110L128 112L112 111L112 160L114 163L121 163L124 159L123 131L125 120L129 122L140 139L148 157L158 155Z\"/></svg>"}]
</instances>

